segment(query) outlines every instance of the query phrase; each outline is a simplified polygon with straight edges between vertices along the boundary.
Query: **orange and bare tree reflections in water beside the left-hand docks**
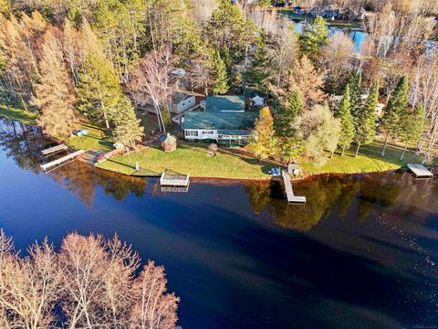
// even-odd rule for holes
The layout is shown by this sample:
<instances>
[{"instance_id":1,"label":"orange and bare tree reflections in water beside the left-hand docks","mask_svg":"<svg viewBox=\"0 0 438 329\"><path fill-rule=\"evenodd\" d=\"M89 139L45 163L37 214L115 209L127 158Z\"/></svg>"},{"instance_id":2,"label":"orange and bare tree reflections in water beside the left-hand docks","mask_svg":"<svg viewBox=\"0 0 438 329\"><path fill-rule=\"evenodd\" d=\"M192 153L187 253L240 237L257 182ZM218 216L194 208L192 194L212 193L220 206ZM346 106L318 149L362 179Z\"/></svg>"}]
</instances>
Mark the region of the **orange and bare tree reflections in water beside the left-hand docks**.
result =
<instances>
[{"instance_id":1,"label":"orange and bare tree reflections in water beside the left-hand docks","mask_svg":"<svg viewBox=\"0 0 438 329\"><path fill-rule=\"evenodd\" d=\"M41 150L48 144L50 142L44 139L39 128L1 119L0 147L20 168L40 173L39 164L43 161ZM89 207L97 186L117 200L123 200L130 193L141 197L146 186L145 179L97 170L79 161L60 166L47 175Z\"/></svg>"}]
</instances>

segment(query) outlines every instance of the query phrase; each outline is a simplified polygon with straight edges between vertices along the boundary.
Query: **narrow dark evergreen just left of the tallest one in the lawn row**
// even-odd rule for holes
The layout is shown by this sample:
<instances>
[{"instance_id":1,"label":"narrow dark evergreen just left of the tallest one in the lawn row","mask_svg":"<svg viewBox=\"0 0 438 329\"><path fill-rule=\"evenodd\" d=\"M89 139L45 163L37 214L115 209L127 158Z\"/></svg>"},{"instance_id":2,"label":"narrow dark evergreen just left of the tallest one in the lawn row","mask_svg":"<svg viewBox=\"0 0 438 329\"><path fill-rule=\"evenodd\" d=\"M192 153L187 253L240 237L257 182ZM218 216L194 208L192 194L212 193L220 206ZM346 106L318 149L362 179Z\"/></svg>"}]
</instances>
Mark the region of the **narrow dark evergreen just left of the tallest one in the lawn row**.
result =
<instances>
[{"instance_id":1,"label":"narrow dark evergreen just left of the tallest one in the lawn row","mask_svg":"<svg viewBox=\"0 0 438 329\"><path fill-rule=\"evenodd\" d=\"M356 156L359 154L360 145L368 145L376 136L377 105L379 104L379 82L370 90L370 95L363 106L360 107L356 120L355 142L358 145Z\"/></svg>"}]
</instances>

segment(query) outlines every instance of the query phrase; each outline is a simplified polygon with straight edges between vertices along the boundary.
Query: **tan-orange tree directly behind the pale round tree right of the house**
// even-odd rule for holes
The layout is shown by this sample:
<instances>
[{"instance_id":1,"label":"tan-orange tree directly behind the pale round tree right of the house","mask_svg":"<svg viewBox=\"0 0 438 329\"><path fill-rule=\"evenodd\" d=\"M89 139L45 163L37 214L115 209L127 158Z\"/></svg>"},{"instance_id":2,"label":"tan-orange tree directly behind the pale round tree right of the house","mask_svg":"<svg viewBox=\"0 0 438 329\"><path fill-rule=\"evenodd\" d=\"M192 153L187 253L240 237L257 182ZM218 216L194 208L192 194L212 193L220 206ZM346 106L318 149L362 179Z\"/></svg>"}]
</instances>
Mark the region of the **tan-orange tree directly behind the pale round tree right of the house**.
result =
<instances>
[{"instance_id":1,"label":"tan-orange tree directly behind the pale round tree right of the house","mask_svg":"<svg viewBox=\"0 0 438 329\"><path fill-rule=\"evenodd\" d=\"M304 108L310 109L325 100L326 95L321 90L323 86L321 75L306 56L295 61L295 65L290 70L289 90L301 92Z\"/></svg>"}]
</instances>

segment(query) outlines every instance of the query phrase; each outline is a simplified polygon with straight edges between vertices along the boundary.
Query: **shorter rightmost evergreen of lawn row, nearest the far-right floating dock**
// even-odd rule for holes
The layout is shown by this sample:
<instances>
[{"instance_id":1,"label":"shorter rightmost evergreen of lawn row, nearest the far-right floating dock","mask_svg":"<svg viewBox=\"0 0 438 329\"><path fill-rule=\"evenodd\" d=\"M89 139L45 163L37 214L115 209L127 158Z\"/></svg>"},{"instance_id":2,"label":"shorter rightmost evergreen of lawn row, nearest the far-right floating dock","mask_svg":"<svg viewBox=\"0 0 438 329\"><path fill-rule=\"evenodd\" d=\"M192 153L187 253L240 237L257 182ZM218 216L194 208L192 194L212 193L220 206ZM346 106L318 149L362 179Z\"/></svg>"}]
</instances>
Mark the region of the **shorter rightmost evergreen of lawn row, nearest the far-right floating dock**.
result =
<instances>
[{"instance_id":1,"label":"shorter rightmost evergreen of lawn row, nearest the far-right floating dock","mask_svg":"<svg viewBox=\"0 0 438 329\"><path fill-rule=\"evenodd\" d=\"M411 111L403 111L400 117L400 137L404 142L403 153L400 160L403 160L410 143L415 143L422 136L424 129L424 105L420 104Z\"/></svg>"}]
</instances>

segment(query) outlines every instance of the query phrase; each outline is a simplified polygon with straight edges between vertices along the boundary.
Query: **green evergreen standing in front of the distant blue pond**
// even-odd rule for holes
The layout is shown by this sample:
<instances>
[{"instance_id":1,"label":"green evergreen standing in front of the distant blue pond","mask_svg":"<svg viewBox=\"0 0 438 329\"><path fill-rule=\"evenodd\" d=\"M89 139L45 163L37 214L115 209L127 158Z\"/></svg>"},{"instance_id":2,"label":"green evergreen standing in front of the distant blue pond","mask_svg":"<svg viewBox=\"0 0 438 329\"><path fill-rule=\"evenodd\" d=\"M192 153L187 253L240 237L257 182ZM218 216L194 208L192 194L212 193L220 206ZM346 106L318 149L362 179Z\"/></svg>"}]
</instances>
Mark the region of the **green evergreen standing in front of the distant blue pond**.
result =
<instances>
[{"instance_id":1,"label":"green evergreen standing in front of the distant blue pond","mask_svg":"<svg viewBox=\"0 0 438 329\"><path fill-rule=\"evenodd\" d=\"M313 27L306 29L299 37L299 49L302 55L314 60L318 58L320 48L327 44L328 28L323 17L317 16Z\"/></svg>"}]
</instances>

